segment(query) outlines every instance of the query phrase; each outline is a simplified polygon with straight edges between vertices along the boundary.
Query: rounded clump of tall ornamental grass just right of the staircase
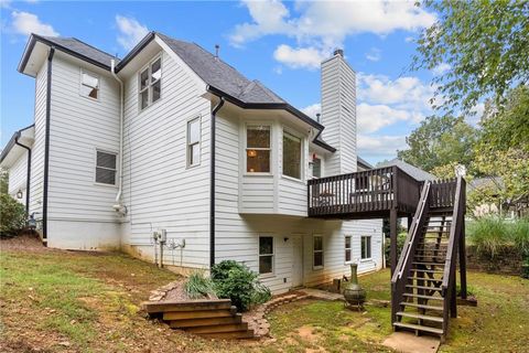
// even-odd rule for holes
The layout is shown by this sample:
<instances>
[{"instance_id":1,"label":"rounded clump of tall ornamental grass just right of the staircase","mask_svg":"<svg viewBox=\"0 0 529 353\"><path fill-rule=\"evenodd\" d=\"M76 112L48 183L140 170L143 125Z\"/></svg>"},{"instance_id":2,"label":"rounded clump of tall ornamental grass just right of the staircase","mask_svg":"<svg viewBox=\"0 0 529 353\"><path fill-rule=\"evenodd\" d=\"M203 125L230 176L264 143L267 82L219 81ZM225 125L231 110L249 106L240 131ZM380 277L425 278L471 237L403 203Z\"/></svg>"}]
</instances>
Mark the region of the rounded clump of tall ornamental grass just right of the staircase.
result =
<instances>
[{"instance_id":1,"label":"rounded clump of tall ornamental grass just right of the staircase","mask_svg":"<svg viewBox=\"0 0 529 353\"><path fill-rule=\"evenodd\" d=\"M511 243L509 235L511 226L497 216L483 217L469 222L466 234L482 256L494 256Z\"/></svg>"}]
</instances>

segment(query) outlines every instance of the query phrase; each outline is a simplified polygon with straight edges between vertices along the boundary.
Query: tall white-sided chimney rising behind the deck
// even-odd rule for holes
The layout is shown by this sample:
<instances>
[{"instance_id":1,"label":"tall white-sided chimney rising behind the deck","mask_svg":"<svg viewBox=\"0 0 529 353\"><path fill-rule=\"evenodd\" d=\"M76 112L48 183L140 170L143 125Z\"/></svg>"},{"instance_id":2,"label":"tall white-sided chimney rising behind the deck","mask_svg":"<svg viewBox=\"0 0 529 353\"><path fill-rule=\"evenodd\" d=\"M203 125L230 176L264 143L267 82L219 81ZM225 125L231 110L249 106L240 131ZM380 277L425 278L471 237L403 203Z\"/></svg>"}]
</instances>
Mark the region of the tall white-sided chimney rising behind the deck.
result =
<instances>
[{"instance_id":1,"label":"tall white-sided chimney rising behind the deck","mask_svg":"<svg viewBox=\"0 0 529 353\"><path fill-rule=\"evenodd\" d=\"M325 175L356 172L356 73L337 49L322 63L323 139L336 148Z\"/></svg>"}]
</instances>

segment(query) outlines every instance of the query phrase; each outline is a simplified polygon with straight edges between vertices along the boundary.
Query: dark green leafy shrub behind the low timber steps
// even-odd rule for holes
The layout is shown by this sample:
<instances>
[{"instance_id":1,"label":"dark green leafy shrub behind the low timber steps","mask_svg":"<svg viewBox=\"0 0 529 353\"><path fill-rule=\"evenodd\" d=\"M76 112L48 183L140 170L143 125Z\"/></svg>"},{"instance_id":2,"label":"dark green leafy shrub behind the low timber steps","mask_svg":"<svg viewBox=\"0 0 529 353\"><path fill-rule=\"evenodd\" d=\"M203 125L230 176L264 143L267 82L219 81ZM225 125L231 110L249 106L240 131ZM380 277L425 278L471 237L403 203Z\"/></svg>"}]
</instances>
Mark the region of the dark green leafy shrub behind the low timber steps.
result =
<instances>
[{"instance_id":1,"label":"dark green leafy shrub behind the low timber steps","mask_svg":"<svg viewBox=\"0 0 529 353\"><path fill-rule=\"evenodd\" d=\"M219 298L229 298L239 311L268 301L270 290L258 281L258 274L234 260L224 260L212 268L212 279Z\"/></svg>"}]
</instances>

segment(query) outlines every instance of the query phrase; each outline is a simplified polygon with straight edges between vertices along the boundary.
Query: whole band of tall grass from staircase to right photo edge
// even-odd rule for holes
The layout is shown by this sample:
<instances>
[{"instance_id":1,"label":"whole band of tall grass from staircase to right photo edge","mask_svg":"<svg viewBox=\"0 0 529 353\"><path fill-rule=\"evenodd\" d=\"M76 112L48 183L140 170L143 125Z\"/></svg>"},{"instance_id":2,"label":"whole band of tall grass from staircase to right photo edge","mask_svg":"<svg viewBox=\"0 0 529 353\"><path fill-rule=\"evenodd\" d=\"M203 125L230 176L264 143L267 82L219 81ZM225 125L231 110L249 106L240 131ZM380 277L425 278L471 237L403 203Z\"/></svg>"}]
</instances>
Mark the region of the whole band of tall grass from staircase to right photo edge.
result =
<instances>
[{"instance_id":1,"label":"whole band of tall grass from staircase to right photo edge","mask_svg":"<svg viewBox=\"0 0 529 353\"><path fill-rule=\"evenodd\" d=\"M498 216L469 222L466 234L478 254L494 258L507 247L514 247L520 256L529 254L529 220L507 221Z\"/></svg>"}]
</instances>

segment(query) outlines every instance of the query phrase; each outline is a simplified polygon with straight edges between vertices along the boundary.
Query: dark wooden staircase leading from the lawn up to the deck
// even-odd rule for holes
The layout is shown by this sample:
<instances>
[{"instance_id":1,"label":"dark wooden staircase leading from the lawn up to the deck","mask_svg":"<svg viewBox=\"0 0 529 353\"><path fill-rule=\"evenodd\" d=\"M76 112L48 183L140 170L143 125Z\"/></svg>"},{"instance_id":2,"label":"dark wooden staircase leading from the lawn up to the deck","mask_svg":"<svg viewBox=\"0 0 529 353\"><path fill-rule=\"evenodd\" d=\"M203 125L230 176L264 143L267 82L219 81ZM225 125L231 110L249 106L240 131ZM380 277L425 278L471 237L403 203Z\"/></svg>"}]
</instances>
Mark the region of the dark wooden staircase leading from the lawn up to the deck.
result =
<instances>
[{"instance_id":1,"label":"dark wooden staircase leading from the lawn up to the deck","mask_svg":"<svg viewBox=\"0 0 529 353\"><path fill-rule=\"evenodd\" d=\"M396 331L433 334L444 340L449 313L456 317L456 255L464 246L464 180L460 178L453 185L453 192L447 182L425 182L422 189L391 278L391 320ZM449 195L447 200L440 201L441 194Z\"/></svg>"}]
</instances>

